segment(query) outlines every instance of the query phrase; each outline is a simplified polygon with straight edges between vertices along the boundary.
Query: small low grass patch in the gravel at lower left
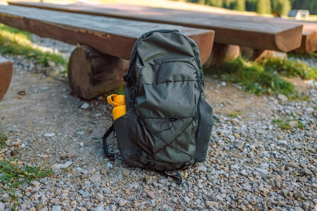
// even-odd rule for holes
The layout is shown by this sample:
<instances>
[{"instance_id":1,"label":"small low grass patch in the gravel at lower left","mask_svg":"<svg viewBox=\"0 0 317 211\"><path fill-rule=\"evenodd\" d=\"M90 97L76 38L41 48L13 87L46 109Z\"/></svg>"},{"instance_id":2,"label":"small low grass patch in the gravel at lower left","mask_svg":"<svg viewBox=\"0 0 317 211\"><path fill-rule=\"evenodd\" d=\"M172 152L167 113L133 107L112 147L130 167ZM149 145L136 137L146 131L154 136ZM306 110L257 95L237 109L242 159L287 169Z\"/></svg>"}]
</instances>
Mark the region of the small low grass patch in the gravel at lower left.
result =
<instances>
[{"instance_id":1,"label":"small low grass patch in the gravel at lower left","mask_svg":"<svg viewBox=\"0 0 317 211\"><path fill-rule=\"evenodd\" d=\"M0 161L0 173L0 180L10 188L54 174L52 170L42 170L39 166L21 166L14 161Z\"/></svg>"}]
</instances>

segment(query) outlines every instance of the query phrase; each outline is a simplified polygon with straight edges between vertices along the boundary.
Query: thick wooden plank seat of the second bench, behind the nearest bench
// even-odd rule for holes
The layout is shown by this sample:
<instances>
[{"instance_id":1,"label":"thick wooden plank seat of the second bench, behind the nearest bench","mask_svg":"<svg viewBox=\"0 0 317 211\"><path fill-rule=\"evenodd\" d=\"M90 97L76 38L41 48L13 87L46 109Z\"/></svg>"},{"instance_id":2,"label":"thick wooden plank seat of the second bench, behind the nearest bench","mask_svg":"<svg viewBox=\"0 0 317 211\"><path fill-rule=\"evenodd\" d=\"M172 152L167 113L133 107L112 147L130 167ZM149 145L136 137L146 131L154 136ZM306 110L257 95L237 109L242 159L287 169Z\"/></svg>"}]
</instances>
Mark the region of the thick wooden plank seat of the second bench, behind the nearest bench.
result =
<instances>
[{"instance_id":1,"label":"thick wooden plank seat of the second bench, behind the nearest bench","mask_svg":"<svg viewBox=\"0 0 317 211\"><path fill-rule=\"evenodd\" d=\"M25 2L9 2L9 4L213 29L216 31L216 43L246 46L254 49L289 52L301 46L302 24L256 21L253 19L255 17L242 20L237 16L229 17L224 14L133 5L52 5Z\"/></svg>"}]
</instances>

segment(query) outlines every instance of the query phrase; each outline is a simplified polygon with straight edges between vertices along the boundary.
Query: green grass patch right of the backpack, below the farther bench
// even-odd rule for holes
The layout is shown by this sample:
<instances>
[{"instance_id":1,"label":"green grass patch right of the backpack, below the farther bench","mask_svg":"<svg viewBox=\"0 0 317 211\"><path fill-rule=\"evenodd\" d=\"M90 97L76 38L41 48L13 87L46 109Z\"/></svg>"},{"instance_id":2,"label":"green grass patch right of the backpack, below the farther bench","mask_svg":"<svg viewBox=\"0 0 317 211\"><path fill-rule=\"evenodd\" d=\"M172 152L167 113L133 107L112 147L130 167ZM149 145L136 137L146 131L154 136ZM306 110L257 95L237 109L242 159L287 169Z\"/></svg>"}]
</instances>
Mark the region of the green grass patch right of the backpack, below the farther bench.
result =
<instances>
[{"instance_id":1,"label":"green grass patch right of the backpack, below the farther bench","mask_svg":"<svg viewBox=\"0 0 317 211\"><path fill-rule=\"evenodd\" d=\"M221 79L237 83L246 92L256 95L284 94L296 97L295 86L286 77L317 79L317 68L295 60L269 58L250 62L243 57L204 69L207 75L216 74Z\"/></svg>"}]
</instances>

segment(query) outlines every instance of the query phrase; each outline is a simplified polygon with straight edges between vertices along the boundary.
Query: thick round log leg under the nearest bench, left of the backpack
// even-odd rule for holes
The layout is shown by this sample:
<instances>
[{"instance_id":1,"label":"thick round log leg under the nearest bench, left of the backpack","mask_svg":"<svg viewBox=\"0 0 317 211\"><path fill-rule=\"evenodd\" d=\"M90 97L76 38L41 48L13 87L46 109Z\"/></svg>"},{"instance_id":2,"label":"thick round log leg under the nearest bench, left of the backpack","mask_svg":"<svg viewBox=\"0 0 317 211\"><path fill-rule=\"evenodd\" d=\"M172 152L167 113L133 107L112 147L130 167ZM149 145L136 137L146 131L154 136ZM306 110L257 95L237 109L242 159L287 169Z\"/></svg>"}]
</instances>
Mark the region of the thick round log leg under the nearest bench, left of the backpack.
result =
<instances>
[{"instance_id":1,"label":"thick round log leg under the nearest bench, left of the backpack","mask_svg":"<svg viewBox=\"0 0 317 211\"><path fill-rule=\"evenodd\" d=\"M129 60L78 44L69 58L69 85L75 96L89 100L124 85L128 68Z\"/></svg>"}]
</instances>

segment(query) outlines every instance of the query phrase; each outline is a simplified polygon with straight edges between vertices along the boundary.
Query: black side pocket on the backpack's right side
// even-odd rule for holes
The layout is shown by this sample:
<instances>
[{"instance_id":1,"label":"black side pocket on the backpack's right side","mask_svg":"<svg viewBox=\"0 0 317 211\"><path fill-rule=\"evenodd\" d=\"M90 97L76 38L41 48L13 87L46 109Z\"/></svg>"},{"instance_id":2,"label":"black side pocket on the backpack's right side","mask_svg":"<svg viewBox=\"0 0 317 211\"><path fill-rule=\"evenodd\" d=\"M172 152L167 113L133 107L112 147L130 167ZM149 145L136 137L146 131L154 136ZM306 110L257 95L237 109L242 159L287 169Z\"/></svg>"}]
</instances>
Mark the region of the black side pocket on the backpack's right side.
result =
<instances>
[{"instance_id":1,"label":"black side pocket on the backpack's right side","mask_svg":"<svg viewBox=\"0 0 317 211\"><path fill-rule=\"evenodd\" d=\"M196 153L194 155L194 161L204 162L213 126L213 109L202 97L199 102L199 114L200 122L196 132Z\"/></svg>"}]
</instances>

